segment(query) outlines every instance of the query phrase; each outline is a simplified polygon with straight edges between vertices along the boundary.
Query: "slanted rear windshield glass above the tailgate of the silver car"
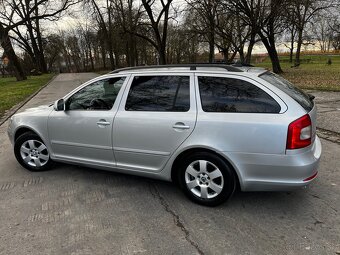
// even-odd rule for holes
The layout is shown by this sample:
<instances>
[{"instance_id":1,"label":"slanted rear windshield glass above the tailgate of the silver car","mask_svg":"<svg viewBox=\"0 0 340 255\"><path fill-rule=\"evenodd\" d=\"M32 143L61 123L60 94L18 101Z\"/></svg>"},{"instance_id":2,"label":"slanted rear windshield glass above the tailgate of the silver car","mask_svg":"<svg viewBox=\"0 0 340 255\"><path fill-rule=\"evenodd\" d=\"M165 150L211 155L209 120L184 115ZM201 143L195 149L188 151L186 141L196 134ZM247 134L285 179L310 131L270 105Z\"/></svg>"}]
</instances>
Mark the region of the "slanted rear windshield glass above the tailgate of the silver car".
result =
<instances>
[{"instance_id":1,"label":"slanted rear windshield glass above the tailgate of the silver car","mask_svg":"<svg viewBox=\"0 0 340 255\"><path fill-rule=\"evenodd\" d=\"M311 111L314 107L313 101L309 98L309 96L303 92L301 89L295 87L289 81L283 79L281 76L276 75L271 72L266 72L260 75L262 79L279 88L286 94L288 94L291 98L293 98L296 102L298 102L307 112Z\"/></svg>"}]
</instances>

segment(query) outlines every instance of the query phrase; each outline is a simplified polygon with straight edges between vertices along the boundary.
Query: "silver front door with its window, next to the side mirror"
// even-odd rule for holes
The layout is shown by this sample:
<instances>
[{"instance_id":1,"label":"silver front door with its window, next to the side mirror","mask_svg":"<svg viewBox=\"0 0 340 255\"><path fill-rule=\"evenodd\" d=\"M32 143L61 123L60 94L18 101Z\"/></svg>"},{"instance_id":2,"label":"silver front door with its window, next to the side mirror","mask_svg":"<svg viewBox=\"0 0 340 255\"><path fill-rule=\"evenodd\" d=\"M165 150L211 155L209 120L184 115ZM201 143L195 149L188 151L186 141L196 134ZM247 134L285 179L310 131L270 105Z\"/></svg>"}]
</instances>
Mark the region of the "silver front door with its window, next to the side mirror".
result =
<instances>
[{"instance_id":1,"label":"silver front door with its window, next to the side mirror","mask_svg":"<svg viewBox=\"0 0 340 255\"><path fill-rule=\"evenodd\" d=\"M65 99L64 111L53 111L48 130L57 159L114 166L112 125L125 76L96 80Z\"/></svg>"}]
</instances>

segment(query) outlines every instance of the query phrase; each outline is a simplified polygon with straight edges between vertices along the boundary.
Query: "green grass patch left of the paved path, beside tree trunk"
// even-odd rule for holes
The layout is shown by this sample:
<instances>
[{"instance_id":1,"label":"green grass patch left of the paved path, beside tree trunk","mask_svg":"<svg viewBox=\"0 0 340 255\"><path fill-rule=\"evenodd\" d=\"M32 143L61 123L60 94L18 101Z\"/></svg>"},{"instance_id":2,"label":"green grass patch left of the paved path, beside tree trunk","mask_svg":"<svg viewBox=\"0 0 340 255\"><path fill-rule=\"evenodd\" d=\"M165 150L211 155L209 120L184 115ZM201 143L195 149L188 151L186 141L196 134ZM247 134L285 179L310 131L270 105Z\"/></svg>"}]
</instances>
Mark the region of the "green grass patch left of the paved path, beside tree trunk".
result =
<instances>
[{"instance_id":1,"label":"green grass patch left of the paved path, beside tree trunk","mask_svg":"<svg viewBox=\"0 0 340 255\"><path fill-rule=\"evenodd\" d=\"M0 78L0 118L6 110L20 103L44 86L54 74L30 76L25 81L16 81L15 78Z\"/></svg>"}]
</instances>

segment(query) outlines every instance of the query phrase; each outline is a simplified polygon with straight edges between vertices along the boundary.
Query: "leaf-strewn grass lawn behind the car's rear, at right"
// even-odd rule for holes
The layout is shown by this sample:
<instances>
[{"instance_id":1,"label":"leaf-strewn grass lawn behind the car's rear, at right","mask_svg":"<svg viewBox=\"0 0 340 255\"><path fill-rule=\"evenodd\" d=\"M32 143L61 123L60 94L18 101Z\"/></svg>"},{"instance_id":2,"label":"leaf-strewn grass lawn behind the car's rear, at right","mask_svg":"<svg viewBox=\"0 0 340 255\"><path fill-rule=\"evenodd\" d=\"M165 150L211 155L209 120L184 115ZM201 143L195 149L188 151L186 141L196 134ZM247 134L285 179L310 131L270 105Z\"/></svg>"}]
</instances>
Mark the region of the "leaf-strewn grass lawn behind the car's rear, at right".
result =
<instances>
[{"instance_id":1,"label":"leaf-strewn grass lawn behind the car's rear, at right","mask_svg":"<svg viewBox=\"0 0 340 255\"><path fill-rule=\"evenodd\" d=\"M301 60L299 67L292 68L288 56L280 57L282 76L303 89L340 91L340 55L304 55ZM269 57L254 65L271 69Z\"/></svg>"}]
</instances>

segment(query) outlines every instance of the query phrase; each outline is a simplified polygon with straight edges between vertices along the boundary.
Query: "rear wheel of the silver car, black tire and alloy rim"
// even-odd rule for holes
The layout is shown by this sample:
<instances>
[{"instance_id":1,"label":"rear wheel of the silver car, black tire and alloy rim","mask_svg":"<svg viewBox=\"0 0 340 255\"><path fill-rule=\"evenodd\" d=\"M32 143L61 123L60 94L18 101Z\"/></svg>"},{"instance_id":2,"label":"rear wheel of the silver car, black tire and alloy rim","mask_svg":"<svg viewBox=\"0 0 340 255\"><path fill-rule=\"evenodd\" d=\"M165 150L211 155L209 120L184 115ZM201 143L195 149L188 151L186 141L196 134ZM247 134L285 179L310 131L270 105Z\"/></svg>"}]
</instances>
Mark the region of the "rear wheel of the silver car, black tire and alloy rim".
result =
<instances>
[{"instance_id":1,"label":"rear wheel of the silver car, black tire and alloy rim","mask_svg":"<svg viewBox=\"0 0 340 255\"><path fill-rule=\"evenodd\" d=\"M178 183L192 201L217 206L233 195L237 181L234 170L221 157L198 152L182 161Z\"/></svg>"}]
</instances>

